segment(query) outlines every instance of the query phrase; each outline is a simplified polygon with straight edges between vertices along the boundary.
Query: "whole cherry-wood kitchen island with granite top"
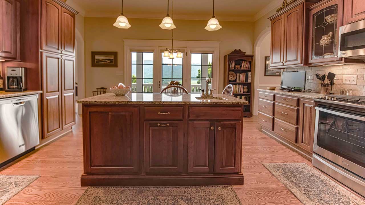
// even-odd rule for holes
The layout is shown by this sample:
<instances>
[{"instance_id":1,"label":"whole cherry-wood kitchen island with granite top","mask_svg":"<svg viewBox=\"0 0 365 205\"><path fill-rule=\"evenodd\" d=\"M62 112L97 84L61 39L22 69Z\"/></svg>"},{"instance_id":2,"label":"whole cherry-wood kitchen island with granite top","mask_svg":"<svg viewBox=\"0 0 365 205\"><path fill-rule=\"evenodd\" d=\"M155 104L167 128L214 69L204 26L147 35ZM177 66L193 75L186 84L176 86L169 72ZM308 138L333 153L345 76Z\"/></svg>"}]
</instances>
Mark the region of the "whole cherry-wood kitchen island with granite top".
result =
<instances>
[{"instance_id":1,"label":"whole cherry-wood kitchen island with granite top","mask_svg":"<svg viewBox=\"0 0 365 205\"><path fill-rule=\"evenodd\" d=\"M217 94L106 93L82 104L81 186L243 184L247 101Z\"/></svg>"}]
</instances>

